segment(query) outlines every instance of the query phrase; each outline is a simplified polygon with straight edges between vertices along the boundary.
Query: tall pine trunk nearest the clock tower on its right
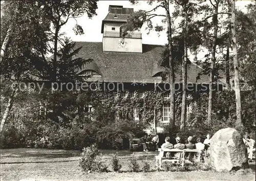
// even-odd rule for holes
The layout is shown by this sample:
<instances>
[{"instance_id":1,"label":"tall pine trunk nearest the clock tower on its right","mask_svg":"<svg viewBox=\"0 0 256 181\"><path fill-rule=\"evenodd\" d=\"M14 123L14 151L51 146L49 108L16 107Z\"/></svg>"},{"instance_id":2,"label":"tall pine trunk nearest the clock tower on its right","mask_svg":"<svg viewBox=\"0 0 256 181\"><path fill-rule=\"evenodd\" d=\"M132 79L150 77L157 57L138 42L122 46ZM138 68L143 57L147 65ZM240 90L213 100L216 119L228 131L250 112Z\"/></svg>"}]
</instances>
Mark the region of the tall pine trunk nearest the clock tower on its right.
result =
<instances>
[{"instance_id":1,"label":"tall pine trunk nearest the clock tower on its right","mask_svg":"<svg viewBox=\"0 0 256 181\"><path fill-rule=\"evenodd\" d=\"M172 56L173 44L172 44L172 26L169 14L169 4L165 3L166 21L168 26L167 38L168 38L168 50L169 50L169 88L170 88L170 114L169 124L171 127L175 126L175 75L174 75L174 60Z\"/></svg>"}]
</instances>

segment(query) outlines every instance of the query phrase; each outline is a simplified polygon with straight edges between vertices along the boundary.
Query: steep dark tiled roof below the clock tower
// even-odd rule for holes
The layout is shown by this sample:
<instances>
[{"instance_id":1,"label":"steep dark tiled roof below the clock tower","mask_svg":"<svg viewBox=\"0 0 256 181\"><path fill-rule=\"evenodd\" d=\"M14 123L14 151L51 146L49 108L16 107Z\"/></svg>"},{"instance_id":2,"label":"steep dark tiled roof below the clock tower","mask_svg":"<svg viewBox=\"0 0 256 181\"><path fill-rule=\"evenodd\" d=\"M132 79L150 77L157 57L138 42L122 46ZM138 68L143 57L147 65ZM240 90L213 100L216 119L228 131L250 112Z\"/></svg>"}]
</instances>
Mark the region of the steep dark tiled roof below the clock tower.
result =
<instances>
[{"instance_id":1,"label":"steep dark tiled roof below the clock tower","mask_svg":"<svg viewBox=\"0 0 256 181\"><path fill-rule=\"evenodd\" d=\"M103 52L102 42L76 42L76 47L82 47L77 57L93 59L101 76L93 76L90 80L105 82L145 82L160 83L161 77L153 77L160 59L163 46L143 44L143 53ZM201 68L191 63L188 67L188 80L190 83L208 82L207 75L200 76ZM176 82L181 82L181 76L176 75Z\"/></svg>"}]
</instances>

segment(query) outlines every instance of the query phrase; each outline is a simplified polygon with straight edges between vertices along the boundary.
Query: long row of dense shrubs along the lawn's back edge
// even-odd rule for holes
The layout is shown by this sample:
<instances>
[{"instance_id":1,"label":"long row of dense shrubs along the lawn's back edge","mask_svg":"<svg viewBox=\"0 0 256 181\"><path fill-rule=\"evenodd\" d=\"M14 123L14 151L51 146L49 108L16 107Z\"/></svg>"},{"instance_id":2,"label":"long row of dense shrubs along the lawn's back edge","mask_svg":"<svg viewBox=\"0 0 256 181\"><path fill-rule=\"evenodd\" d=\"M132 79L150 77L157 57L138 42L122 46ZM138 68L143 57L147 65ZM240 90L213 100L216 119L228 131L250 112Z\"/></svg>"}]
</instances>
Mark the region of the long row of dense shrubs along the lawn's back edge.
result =
<instances>
[{"instance_id":1,"label":"long row of dense shrubs along the lawn's back edge","mask_svg":"<svg viewBox=\"0 0 256 181\"><path fill-rule=\"evenodd\" d=\"M134 124L133 121L122 120L116 124L97 127L94 124L71 127L45 126L38 128L34 139L28 134L19 131L14 126L4 131L1 136L1 148L51 148L51 149L75 149L96 144L101 149L127 149L129 139L140 137L143 127Z\"/></svg>"}]
</instances>

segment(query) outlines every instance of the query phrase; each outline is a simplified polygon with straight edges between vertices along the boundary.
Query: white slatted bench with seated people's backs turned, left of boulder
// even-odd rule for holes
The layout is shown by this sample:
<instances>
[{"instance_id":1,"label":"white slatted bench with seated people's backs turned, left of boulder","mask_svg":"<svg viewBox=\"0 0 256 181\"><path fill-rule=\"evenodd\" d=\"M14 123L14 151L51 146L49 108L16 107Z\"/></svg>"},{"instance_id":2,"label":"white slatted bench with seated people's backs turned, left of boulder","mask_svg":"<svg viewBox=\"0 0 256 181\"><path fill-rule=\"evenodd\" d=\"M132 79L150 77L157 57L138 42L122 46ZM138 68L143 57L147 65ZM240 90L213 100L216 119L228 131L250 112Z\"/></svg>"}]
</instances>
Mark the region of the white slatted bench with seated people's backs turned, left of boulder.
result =
<instances>
[{"instance_id":1,"label":"white slatted bench with seated people's backs turned, left of boulder","mask_svg":"<svg viewBox=\"0 0 256 181\"><path fill-rule=\"evenodd\" d=\"M200 151L197 149L162 149L159 148L159 155L155 156L156 157L156 166L159 166L161 169L162 162L171 162L175 164L180 164L182 167L185 164L185 154L186 153L199 153L197 161L200 161ZM181 153L181 157L171 157L170 159L167 159L164 157L164 152L171 152L171 153Z\"/></svg>"}]
</instances>

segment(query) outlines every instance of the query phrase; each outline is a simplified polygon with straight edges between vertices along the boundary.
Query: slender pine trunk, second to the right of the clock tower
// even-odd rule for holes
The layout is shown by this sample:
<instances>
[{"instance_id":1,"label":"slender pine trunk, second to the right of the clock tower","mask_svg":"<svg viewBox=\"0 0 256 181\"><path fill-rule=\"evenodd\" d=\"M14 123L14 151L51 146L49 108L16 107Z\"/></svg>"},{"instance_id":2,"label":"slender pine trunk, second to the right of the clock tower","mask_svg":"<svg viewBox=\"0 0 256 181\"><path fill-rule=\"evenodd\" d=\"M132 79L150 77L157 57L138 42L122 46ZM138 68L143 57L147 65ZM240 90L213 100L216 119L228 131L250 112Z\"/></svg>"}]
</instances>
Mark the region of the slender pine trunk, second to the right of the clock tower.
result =
<instances>
[{"instance_id":1,"label":"slender pine trunk, second to the right of the clock tower","mask_svg":"<svg viewBox=\"0 0 256 181\"><path fill-rule=\"evenodd\" d=\"M186 127L186 108L187 108L187 15L184 27L184 57L182 61L182 104L181 104L181 124L180 129Z\"/></svg>"}]
</instances>

